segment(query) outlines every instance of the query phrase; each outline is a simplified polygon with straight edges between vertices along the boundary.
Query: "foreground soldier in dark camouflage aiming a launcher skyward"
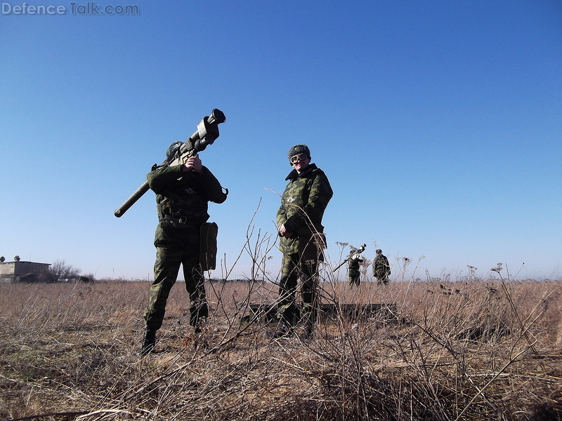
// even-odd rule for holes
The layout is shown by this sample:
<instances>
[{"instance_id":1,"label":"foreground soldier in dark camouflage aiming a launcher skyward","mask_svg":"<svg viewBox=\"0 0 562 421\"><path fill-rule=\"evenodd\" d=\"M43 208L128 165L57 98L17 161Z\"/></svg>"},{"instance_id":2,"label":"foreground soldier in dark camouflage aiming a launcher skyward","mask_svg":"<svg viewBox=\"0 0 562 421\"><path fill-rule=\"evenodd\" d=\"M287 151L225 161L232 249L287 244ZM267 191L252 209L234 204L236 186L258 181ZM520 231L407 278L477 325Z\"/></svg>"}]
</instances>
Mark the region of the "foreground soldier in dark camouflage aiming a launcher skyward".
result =
<instances>
[{"instance_id":1,"label":"foreground soldier in dark camouflage aiming a launcher skyward","mask_svg":"<svg viewBox=\"0 0 562 421\"><path fill-rule=\"evenodd\" d=\"M170 146L169 155L174 153L177 143ZM156 331L162 326L166 300L176 283L180 265L190 297L190 325L196 332L200 331L200 323L209 312L200 265L200 229L209 219L208 202L223 203L228 194L223 192L213 173L202 166L197 155L183 165L157 168L147 175L147 180L156 193L159 223L154 241L154 282L144 313L146 328L141 355L154 349Z\"/></svg>"}]
</instances>

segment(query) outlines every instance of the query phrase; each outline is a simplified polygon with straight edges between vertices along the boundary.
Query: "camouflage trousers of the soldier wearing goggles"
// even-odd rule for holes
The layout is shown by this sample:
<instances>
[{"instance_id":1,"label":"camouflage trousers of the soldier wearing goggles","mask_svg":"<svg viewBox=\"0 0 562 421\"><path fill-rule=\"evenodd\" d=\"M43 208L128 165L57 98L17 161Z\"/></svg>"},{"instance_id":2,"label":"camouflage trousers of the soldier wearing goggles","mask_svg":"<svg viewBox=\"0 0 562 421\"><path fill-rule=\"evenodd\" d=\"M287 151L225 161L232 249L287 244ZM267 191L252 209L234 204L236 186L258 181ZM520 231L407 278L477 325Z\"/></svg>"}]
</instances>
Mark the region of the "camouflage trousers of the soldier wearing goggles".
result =
<instances>
[{"instance_id":1,"label":"camouflage trousers of the soldier wearing goggles","mask_svg":"<svg viewBox=\"0 0 562 421\"><path fill-rule=\"evenodd\" d=\"M318 318L317 252L308 256L299 253L283 255L277 311L282 323L287 326L295 326L299 321L299 311L296 305L299 278L302 280L301 296L303 300L303 312L300 319L308 323L315 323Z\"/></svg>"}]
</instances>

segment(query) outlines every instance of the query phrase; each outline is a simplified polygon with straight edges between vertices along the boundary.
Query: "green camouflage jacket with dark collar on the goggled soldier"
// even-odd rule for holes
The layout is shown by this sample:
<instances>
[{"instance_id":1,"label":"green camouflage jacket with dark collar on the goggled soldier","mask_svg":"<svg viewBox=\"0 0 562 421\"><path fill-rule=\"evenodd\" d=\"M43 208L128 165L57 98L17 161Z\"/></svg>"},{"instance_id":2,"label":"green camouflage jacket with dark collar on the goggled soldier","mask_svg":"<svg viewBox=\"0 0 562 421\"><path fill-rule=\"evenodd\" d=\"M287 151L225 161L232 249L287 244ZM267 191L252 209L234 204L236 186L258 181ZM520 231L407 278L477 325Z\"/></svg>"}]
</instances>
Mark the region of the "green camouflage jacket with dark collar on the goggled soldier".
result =
<instances>
[{"instance_id":1,"label":"green camouflage jacket with dark collar on the goggled soldier","mask_svg":"<svg viewBox=\"0 0 562 421\"><path fill-rule=\"evenodd\" d=\"M325 173L314 163L301 174L291 171L285 180L289 184L277 210L277 227L284 224L293 233L290 238L280 237L281 252L292 254L299 253L313 233L324 232L322 216L333 192Z\"/></svg>"}]
</instances>

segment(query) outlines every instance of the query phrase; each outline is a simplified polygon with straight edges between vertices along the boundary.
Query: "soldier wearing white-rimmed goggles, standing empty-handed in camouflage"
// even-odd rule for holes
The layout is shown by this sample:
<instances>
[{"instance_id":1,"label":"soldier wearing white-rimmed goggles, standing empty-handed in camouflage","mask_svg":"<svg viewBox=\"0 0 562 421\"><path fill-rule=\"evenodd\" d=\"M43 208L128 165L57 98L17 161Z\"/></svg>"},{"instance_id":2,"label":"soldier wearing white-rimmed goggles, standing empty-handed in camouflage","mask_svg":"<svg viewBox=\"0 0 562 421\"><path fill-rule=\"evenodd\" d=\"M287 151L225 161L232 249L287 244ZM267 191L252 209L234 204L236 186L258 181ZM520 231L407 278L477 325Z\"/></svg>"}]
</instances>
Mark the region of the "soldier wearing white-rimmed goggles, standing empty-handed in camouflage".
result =
<instances>
[{"instance_id":1,"label":"soldier wearing white-rimmed goggles, standing empty-handed in camouflage","mask_svg":"<svg viewBox=\"0 0 562 421\"><path fill-rule=\"evenodd\" d=\"M277 232L283 253L279 285L280 326L275 337L291 335L296 324L296 287L302 280L305 335L310 336L318 314L318 262L324 260L322 248L322 216L330 199L332 187L325 173L311 163L311 152L306 145L289 149L289 163L293 171L277 210Z\"/></svg>"}]
</instances>

